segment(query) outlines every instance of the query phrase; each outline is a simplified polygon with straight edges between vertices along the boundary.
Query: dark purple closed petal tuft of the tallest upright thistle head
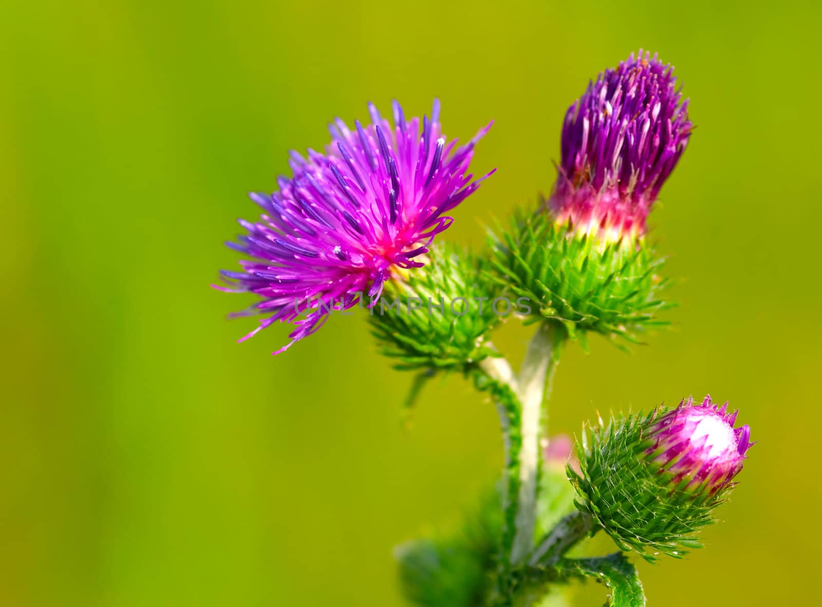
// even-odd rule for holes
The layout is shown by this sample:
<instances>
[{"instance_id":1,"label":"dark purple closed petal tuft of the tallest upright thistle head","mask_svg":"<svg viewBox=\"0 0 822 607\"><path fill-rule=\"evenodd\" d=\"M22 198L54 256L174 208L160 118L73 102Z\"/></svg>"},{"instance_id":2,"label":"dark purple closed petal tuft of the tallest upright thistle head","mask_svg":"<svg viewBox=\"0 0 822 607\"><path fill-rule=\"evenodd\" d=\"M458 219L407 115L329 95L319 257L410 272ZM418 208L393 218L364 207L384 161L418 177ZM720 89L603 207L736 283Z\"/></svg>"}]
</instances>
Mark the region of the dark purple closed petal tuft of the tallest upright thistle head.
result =
<instances>
[{"instance_id":1,"label":"dark purple closed petal tuft of the tallest upright thistle head","mask_svg":"<svg viewBox=\"0 0 822 607\"><path fill-rule=\"evenodd\" d=\"M548 202L557 223L604 241L644 234L693 128L672 72L640 49L600 73L568 108Z\"/></svg>"}]
</instances>

